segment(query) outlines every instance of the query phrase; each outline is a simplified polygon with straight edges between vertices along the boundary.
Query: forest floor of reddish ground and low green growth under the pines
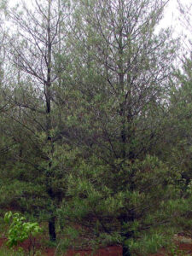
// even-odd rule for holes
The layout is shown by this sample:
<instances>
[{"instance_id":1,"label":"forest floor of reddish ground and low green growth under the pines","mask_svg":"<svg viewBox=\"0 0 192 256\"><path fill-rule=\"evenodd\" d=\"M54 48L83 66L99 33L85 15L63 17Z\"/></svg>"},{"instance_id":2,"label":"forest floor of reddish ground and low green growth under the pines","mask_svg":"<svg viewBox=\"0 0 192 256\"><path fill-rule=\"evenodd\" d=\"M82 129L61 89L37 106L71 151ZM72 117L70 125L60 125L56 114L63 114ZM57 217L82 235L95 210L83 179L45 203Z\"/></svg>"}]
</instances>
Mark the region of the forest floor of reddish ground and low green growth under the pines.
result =
<instances>
[{"instance_id":1,"label":"forest floor of reddish ground and low green growth under the pines","mask_svg":"<svg viewBox=\"0 0 192 256\"><path fill-rule=\"evenodd\" d=\"M183 236L183 234L179 234L174 238L176 247L172 248L172 252L167 253L165 248L162 248L159 253L150 254L148 256L189 256L192 255L192 239L189 236ZM6 238L0 238L0 247L2 247L6 242ZM30 247L30 241L24 241L20 244L26 251L26 255L28 252L28 248ZM96 253L91 254L91 250L67 250L67 253L57 253L56 248L44 247L39 241L36 241L36 251L40 251L38 255L44 256L55 256L55 255L65 255L65 256L121 256L122 248L120 246L110 246L100 248L96 251ZM143 255L141 255L143 256Z\"/></svg>"}]
</instances>

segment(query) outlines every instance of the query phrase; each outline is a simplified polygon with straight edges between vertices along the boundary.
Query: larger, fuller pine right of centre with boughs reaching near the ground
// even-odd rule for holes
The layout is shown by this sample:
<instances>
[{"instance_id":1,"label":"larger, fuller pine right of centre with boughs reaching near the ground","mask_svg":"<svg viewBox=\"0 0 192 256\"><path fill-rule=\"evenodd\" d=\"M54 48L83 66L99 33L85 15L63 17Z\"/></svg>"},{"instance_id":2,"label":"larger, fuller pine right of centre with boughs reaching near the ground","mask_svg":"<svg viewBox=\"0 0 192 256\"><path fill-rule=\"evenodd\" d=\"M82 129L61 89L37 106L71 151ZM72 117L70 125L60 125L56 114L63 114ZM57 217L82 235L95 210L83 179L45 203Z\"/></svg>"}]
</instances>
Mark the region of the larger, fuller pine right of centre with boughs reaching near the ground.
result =
<instances>
[{"instance_id":1,"label":"larger, fuller pine right of centre with boughs reaching near the ground","mask_svg":"<svg viewBox=\"0 0 192 256\"><path fill-rule=\"evenodd\" d=\"M96 236L116 239L123 255L131 255L138 237L162 241L154 233L170 221L165 201L178 196L172 172L148 155L163 137L176 44L169 32L155 32L164 1L77 5L70 43L81 103L68 125L85 157L69 179L69 205L74 218L92 223Z\"/></svg>"}]
</instances>

